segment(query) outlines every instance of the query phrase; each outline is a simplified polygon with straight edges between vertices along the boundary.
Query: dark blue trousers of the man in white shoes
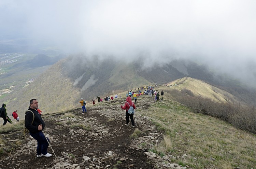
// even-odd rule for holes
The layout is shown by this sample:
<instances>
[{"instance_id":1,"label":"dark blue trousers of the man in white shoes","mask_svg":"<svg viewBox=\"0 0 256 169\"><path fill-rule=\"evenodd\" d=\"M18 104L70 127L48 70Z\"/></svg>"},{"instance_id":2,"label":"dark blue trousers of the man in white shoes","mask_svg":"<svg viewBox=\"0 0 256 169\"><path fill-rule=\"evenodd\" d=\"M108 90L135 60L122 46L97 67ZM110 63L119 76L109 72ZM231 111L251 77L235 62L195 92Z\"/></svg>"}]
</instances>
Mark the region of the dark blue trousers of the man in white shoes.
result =
<instances>
[{"instance_id":1,"label":"dark blue trousers of the man in white shoes","mask_svg":"<svg viewBox=\"0 0 256 169\"><path fill-rule=\"evenodd\" d=\"M41 154L47 154L47 149L48 149L48 142L47 140L50 142L50 140L47 138L47 140L45 139L45 136L43 134L42 131L37 132L37 133L31 133L29 132L29 134L37 140L37 155L41 155Z\"/></svg>"}]
</instances>

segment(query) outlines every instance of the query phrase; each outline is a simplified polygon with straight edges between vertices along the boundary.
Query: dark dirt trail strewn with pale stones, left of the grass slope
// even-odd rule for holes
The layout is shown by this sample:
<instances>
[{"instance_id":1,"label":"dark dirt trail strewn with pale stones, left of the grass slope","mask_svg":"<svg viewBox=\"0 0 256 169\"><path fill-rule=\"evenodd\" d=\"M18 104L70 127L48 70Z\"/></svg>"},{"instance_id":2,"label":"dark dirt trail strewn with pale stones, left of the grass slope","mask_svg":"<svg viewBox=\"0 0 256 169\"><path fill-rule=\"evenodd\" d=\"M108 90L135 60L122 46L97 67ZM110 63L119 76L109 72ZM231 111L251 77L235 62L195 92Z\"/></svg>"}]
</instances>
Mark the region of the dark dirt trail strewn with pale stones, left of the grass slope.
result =
<instances>
[{"instance_id":1,"label":"dark dirt trail strewn with pale stones, left of the grass slope","mask_svg":"<svg viewBox=\"0 0 256 169\"><path fill-rule=\"evenodd\" d=\"M122 123L125 111L120 108L120 104L124 103L125 98L117 99L87 107L85 114L82 114L81 108L77 108L44 117L44 133L50 138L57 159L54 155L37 158L37 142L29 135L25 140L21 131L5 134L3 139L19 139L23 145L10 154L3 154L0 169L154 168L144 151L158 142L161 133L147 117L140 116L140 111L149 111L154 99L145 97L136 103L140 109L136 113L137 125L143 132L138 138L130 137L135 128ZM72 113L75 118L65 117L65 113ZM155 138L151 142L147 137L152 133ZM50 147L48 152L53 154Z\"/></svg>"}]
</instances>

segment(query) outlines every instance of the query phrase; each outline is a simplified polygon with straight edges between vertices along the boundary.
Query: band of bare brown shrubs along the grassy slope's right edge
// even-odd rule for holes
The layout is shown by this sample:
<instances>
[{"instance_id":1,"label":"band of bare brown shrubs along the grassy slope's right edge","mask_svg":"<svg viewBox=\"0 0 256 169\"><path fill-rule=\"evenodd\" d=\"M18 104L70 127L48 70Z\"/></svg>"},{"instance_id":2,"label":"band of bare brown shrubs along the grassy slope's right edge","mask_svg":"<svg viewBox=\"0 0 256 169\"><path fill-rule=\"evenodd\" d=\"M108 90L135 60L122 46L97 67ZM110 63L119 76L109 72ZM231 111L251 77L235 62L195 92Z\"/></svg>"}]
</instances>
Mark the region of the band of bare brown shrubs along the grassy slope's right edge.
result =
<instances>
[{"instance_id":1,"label":"band of bare brown shrubs along the grassy slope's right edge","mask_svg":"<svg viewBox=\"0 0 256 169\"><path fill-rule=\"evenodd\" d=\"M210 98L193 96L193 92L187 90L174 90L172 96L176 101L194 109L197 113L221 118L239 129L256 133L256 110L253 106L216 102Z\"/></svg>"}]
</instances>

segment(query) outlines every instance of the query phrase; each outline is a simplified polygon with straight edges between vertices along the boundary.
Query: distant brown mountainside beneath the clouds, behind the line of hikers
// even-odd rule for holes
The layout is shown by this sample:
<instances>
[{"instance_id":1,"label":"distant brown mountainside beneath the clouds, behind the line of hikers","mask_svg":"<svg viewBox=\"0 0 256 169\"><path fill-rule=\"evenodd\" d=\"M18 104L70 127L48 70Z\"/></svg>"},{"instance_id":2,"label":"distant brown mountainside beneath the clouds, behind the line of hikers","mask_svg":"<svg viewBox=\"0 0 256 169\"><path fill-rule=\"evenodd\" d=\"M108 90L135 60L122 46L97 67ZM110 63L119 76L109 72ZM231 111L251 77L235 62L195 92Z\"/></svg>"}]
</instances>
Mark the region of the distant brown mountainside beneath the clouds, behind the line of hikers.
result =
<instances>
[{"instance_id":1,"label":"distant brown mountainside beneath the clouds, behind the line of hikers","mask_svg":"<svg viewBox=\"0 0 256 169\"><path fill-rule=\"evenodd\" d=\"M40 100L40 109L44 113L56 113L79 107L81 98L89 103L96 99L97 96L103 98L116 95L127 89L133 90L140 86L165 84L188 75L191 78L203 80L215 86L210 87L212 88L211 93L204 94L205 96L209 95L206 97L213 96L213 99L219 101L239 100L239 102L247 102L248 104L253 103L255 99L253 89L243 88L240 83L234 81L221 86L218 80L215 80L216 77L213 73L195 63L173 61L165 65L143 68L139 61L134 62L134 64L133 62L126 63L110 58L99 60L97 56L91 59L84 55L69 56L48 68L32 83L25 85L21 89L13 88L13 92L0 98L0 100L6 104L9 114L17 109L19 116L24 118L24 112L29 106L29 100L32 98ZM225 79L221 79L221 81L223 83L227 82ZM198 88L189 90L197 94L200 90L199 86L206 83L195 84ZM232 86L233 88L227 86ZM232 91L231 94L234 93L233 95L236 99L230 94L219 92L216 87ZM206 91L204 90L204 92ZM223 96L218 96L220 94ZM202 95L202 93L199 95Z\"/></svg>"}]
</instances>

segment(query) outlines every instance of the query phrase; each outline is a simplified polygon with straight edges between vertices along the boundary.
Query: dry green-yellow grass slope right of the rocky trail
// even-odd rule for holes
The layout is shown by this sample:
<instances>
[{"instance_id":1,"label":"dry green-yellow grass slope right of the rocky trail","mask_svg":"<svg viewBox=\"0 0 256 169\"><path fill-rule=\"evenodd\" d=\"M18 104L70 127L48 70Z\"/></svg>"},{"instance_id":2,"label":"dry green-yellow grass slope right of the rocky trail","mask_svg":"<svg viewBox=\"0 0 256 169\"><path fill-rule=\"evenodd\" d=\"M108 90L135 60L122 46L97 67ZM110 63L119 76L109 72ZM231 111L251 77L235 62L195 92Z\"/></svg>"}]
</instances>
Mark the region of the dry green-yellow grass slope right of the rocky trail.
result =
<instances>
[{"instance_id":1,"label":"dry green-yellow grass slope right of the rocky trail","mask_svg":"<svg viewBox=\"0 0 256 169\"><path fill-rule=\"evenodd\" d=\"M193 110L167 97L165 99L143 112L170 139L169 144L162 139L150 151L160 156L167 152L175 157L186 154L185 158L172 159L172 163L196 169L256 167L254 134L238 130L214 117L195 114ZM215 161L210 160L211 157Z\"/></svg>"}]
</instances>

